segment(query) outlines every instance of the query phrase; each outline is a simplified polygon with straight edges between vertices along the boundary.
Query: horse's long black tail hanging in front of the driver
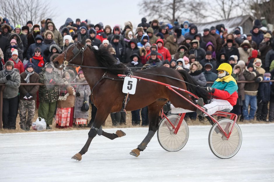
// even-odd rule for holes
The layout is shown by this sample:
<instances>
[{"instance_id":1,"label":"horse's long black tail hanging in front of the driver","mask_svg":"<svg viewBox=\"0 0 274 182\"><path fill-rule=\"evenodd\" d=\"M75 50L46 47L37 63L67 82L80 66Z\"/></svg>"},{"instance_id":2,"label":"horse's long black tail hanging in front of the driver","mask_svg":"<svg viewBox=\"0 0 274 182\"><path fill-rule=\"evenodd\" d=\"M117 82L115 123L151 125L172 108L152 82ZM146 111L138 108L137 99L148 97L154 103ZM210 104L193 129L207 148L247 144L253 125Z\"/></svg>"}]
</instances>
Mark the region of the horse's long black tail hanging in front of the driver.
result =
<instances>
[{"instance_id":1,"label":"horse's long black tail hanging in front of the driver","mask_svg":"<svg viewBox=\"0 0 274 182\"><path fill-rule=\"evenodd\" d=\"M185 70L177 70L184 78L187 86L187 90L197 95L199 98L203 98L204 101L210 98L210 93L204 88L197 85L194 79Z\"/></svg>"}]
</instances>

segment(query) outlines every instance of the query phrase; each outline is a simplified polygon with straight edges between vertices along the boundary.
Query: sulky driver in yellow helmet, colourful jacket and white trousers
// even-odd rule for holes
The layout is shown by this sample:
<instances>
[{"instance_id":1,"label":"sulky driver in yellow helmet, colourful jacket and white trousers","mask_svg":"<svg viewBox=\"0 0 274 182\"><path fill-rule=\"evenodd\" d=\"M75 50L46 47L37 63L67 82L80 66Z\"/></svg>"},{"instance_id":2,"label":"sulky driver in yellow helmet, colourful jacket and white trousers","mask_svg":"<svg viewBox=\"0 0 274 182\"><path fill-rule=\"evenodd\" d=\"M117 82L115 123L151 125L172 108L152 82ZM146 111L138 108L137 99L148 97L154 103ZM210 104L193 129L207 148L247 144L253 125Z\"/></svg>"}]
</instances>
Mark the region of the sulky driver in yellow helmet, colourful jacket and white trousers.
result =
<instances>
[{"instance_id":1,"label":"sulky driver in yellow helmet, colourful jacket and white trousers","mask_svg":"<svg viewBox=\"0 0 274 182\"><path fill-rule=\"evenodd\" d=\"M212 87L206 87L214 98L210 104L203 105L203 98L199 98L197 104L201 106L209 115L214 114L216 111L224 109L232 110L238 98L238 86L236 80L231 76L232 67L228 63L220 64L217 69L218 79L215 80ZM206 116L203 111L197 109L197 114Z\"/></svg>"}]
</instances>

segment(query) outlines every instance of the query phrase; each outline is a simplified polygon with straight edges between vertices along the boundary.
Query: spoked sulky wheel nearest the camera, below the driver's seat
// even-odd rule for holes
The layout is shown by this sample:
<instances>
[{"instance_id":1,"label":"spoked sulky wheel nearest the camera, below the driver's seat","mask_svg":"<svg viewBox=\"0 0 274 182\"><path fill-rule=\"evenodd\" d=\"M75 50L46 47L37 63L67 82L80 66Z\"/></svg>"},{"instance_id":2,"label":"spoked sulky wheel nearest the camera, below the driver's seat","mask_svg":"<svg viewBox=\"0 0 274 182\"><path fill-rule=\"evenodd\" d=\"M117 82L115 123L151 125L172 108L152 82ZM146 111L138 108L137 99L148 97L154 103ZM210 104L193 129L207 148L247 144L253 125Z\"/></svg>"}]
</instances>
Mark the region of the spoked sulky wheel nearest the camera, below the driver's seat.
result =
<instances>
[{"instance_id":1,"label":"spoked sulky wheel nearest the camera, below the driver's seat","mask_svg":"<svg viewBox=\"0 0 274 182\"><path fill-rule=\"evenodd\" d=\"M229 134L233 125L233 120L229 118L220 119L219 125ZM219 158L231 158L237 154L242 144L242 132L240 127L235 123L232 133L228 140L222 134L217 123L215 123L208 135L208 144L211 152Z\"/></svg>"}]
</instances>

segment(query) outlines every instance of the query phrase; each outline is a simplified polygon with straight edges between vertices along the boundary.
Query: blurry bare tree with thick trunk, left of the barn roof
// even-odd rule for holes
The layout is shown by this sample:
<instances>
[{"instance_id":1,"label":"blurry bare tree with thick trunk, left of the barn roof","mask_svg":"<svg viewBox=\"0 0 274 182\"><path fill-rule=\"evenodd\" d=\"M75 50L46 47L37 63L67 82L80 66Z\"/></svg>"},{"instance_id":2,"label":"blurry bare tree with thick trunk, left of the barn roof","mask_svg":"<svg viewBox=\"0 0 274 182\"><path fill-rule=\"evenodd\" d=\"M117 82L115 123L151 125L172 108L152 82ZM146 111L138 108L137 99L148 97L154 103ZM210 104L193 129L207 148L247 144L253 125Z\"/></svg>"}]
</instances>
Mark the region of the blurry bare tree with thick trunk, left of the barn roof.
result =
<instances>
[{"instance_id":1,"label":"blurry bare tree with thick trunk, left of the barn roof","mask_svg":"<svg viewBox=\"0 0 274 182\"><path fill-rule=\"evenodd\" d=\"M205 18L202 13L204 3L200 0L143 0L138 5L140 14L151 19L169 21L171 24L176 19L197 21Z\"/></svg>"}]
</instances>

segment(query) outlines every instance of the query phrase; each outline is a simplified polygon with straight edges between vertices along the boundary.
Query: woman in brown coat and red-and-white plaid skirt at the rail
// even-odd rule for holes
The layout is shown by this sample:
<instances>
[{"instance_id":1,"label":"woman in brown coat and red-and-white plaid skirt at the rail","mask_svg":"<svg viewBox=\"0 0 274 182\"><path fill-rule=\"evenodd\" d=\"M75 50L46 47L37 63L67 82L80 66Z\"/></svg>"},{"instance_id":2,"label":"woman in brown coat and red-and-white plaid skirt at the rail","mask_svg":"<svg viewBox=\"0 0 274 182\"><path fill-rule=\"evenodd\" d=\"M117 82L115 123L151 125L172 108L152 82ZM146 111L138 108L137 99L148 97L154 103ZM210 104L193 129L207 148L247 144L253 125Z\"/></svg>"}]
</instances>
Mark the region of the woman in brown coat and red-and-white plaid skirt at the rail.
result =
<instances>
[{"instance_id":1,"label":"woman in brown coat and red-and-white plaid skirt at the rail","mask_svg":"<svg viewBox=\"0 0 274 182\"><path fill-rule=\"evenodd\" d=\"M73 70L66 70L62 75L62 85L57 100L55 116L56 128L67 128L73 126L73 109L76 95L76 85L73 84L75 74ZM78 94L79 95L79 94Z\"/></svg>"}]
</instances>

